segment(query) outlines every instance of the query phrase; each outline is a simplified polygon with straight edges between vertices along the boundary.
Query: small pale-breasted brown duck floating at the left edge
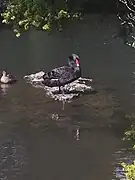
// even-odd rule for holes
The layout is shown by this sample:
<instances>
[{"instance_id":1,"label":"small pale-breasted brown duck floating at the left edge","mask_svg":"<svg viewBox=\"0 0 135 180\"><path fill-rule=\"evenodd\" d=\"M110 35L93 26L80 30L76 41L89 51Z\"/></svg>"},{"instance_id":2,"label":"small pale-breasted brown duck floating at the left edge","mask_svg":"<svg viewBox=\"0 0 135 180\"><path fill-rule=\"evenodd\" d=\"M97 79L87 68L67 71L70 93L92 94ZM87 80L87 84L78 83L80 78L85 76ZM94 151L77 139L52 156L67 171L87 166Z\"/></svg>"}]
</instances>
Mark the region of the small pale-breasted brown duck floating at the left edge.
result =
<instances>
[{"instance_id":1,"label":"small pale-breasted brown duck floating at the left edge","mask_svg":"<svg viewBox=\"0 0 135 180\"><path fill-rule=\"evenodd\" d=\"M1 84L13 84L16 82L16 79L14 76L7 74L5 70L2 71L2 76L0 78Z\"/></svg>"}]
</instances>

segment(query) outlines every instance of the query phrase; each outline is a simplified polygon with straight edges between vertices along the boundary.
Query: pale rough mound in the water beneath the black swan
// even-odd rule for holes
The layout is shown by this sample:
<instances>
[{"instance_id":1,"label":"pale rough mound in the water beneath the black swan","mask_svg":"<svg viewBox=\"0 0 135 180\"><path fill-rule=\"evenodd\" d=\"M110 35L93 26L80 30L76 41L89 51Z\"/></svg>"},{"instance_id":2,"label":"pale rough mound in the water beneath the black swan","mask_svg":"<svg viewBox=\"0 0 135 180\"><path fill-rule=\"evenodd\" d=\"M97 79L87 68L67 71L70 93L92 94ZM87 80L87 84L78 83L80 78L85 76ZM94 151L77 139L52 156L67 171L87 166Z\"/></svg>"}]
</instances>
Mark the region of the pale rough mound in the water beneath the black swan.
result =
<instances>
[{"instance_id":1,"label":"pale rough mound in the water beneath the black swan","mask_svg":"<svg viewBox=\"0 0 135 180\"><path fill-rule=\"evenodd\" d=\"M43 75L45 72L41 71L35 74L30 74L24 76L27 83L32 84L36 88L43 88L48 96L58 101L68 101L70 102L75 97L80 96L82 93L93 93L96 92L94 88L91 87L92 79L79 78L78 80L67 84L63 87L62 94L59 93L59 87L48 87L45 86L43 81Z\"/></svg>"}]
</instances>

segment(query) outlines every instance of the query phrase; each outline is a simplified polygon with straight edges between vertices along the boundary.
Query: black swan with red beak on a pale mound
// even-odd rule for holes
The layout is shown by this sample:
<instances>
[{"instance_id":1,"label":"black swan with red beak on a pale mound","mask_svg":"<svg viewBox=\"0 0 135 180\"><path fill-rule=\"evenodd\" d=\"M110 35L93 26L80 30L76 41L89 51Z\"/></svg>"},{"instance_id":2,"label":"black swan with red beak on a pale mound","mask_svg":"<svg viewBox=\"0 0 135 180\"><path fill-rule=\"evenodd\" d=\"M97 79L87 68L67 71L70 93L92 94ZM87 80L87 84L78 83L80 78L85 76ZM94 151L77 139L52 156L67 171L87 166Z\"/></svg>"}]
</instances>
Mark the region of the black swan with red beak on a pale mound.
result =
<instances>
[{"instance_id":1,"label":"black swan with red beak on a pale mound","mask_svg":"<svg viewBox=\"0 0 135 180\"><path fill-rule=\"evenodd\" d=\"M61 66L43 75L43 84L49 87L60 87L68 83L71 83L81 77L81 68L79 57L76 54L72 54L68 58L68 64Z\"/></svg>"}]
</instances>

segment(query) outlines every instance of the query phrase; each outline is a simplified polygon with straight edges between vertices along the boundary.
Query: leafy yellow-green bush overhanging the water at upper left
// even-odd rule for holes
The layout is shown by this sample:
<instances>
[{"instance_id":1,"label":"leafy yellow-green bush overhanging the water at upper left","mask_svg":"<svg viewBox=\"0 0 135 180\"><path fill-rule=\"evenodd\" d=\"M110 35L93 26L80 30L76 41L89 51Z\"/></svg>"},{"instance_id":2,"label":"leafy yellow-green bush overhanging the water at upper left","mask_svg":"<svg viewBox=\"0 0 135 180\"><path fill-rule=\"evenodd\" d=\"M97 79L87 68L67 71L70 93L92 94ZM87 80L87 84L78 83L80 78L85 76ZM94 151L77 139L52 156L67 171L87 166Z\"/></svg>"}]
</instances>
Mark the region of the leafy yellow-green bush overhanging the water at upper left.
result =
<instances>
[{"instance_id":1,"label":"leafy yellow-green bush overhanging the water at upper left","mask_svg":"<svg viewBox=\"0 0 135 180\"><path fill-rule=\"evenodd\" d=\"M69 10L65 0L9 0L1 16L2 23L11 24L19 37L31 27L44 31L55 27L61 31L65 21L80 18L80 13Z\"/></svg>"}]
</instances>

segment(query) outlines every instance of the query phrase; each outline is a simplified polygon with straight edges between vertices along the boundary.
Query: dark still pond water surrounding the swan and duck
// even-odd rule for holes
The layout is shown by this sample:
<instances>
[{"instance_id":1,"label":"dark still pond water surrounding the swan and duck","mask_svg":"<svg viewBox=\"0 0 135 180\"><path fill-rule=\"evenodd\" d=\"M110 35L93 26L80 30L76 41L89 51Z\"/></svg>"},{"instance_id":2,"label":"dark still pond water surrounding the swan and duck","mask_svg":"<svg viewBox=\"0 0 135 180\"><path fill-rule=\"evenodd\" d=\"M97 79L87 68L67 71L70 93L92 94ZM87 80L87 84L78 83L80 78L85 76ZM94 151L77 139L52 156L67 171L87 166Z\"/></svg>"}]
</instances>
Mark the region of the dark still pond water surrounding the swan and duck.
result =
<instances>
[{"instance_id":1,"label":"dark still pond water surrounding the swan and duck","mask_svg":"<svg viewBox=\"0 0 135 180\"><path fill-rule=\"evenodd\" d=\"M0 32L0 69L19 82L0 91L0 180L110 180L131 111L135 51L113 35L115 16L86 17L63 33L31 31L17 39ZM22 77L80 55L83 76L99 92L65 105ZM76 130L79 129L79 140Z\"/></svg>"}]
</instances>

